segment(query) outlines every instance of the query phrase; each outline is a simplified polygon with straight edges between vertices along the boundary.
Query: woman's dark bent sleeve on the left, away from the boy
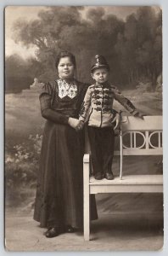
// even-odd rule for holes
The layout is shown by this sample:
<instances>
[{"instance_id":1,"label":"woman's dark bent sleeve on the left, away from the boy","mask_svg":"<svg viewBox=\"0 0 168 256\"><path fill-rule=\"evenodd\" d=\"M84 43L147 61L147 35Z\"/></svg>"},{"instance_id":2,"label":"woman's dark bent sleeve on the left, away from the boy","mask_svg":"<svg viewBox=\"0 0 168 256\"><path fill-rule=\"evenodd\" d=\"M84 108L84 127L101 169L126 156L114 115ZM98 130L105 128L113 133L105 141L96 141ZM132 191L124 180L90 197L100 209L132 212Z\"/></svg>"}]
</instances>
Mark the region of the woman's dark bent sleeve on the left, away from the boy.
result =
<instances>
[{"instance_id":1,"label":"woman's dark bent sleeve on the left, away from the boy","mask_svg":"<svg viewBox=\"0 0 168 256\"><path fill-rule=\"evenodd\" d=\"M54 123L67 125L69 116L66 116L65 114L62 114L62 113L58 113L56 110L53 110L51 108L52 95L53 95L52 84L50 83L45 84L42 88L42 93L39 96L42 117Z\"/></svg>"}]
</instances>

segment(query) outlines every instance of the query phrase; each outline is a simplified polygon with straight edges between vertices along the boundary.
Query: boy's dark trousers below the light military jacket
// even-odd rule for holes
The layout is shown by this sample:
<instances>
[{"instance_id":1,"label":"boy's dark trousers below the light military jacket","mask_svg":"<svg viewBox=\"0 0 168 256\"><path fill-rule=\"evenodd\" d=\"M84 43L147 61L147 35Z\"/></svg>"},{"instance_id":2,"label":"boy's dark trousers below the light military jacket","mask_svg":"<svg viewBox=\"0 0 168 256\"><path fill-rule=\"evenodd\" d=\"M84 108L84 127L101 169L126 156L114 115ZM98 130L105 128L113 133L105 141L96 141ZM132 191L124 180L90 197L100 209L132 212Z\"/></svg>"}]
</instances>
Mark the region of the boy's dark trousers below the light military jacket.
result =
<instances>
[{"instance_id":1,"label":"boy's dark trousers below the light military jacket","mask_svg":"<svg viewBox=\"0 0 168 256\"><path fill-rule=\"evenodd\" d=\"M93 175L98 172L111 173L114 156L115 132L113 127L87 126L91 147Z\"/></svg>"}]
</instances>

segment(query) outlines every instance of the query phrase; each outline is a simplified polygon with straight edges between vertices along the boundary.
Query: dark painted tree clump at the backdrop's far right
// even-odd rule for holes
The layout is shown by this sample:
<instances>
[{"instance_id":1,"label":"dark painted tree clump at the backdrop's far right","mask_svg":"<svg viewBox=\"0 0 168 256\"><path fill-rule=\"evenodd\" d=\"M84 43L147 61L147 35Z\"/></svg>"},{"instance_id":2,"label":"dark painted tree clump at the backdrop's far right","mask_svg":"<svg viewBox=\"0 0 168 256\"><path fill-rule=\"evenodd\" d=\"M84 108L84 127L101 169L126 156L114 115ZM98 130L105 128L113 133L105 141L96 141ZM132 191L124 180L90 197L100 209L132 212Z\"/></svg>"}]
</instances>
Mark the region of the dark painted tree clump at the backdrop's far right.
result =
<instances>
[{"instance_id":1,"label":"dark painted tree clump at the backdrop's far right","mask_svg":"<svg viewBox=\"0 0 168 256\"><path fill-rule=\"evenodd\" d=\"M162 71L161 45L161 11L142 7L126 18L124 34L119 35L115 49L129 84L148 78L154 90Z\"/></svg>"}]
</instances>

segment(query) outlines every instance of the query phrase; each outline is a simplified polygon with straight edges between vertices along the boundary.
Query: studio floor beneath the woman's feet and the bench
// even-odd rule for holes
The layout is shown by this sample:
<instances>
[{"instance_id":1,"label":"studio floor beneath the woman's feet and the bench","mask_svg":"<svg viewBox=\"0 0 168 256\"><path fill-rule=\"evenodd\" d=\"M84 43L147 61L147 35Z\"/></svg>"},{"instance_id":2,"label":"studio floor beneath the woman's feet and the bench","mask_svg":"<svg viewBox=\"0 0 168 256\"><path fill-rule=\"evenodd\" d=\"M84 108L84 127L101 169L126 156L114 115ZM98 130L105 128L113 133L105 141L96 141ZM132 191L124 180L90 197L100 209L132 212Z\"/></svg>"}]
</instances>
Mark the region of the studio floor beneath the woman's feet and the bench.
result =
<instances>
[{"instance_id":1,"label":"studio floor beneath the woman's feet and the bench","mask_svg":"<svg viewBox=\"0 0 168 256\"><path fill-rule=\"evenodd\" d=\"M8 211L5 217L7 251L156 251L163 247L161 212L99 212L91 224L91 241L84 241L82 232L46 238L32 212Z\"/></svg>"}]
</instances>

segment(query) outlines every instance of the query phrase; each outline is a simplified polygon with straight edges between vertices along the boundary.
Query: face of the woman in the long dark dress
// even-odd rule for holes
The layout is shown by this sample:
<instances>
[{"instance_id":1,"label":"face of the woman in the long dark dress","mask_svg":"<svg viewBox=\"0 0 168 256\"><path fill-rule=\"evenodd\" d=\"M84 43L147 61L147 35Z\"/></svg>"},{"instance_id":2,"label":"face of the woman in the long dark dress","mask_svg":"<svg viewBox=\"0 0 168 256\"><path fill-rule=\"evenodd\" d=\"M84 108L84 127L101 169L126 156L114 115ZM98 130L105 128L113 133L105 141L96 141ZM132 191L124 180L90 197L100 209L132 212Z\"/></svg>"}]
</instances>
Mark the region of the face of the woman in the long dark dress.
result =
<instances>
[{"instance_id":1,"label":"face of the woman in the long dark dress","mask_svg":"<svg viewBox=\"0 0 168 256\"><path fill-rule=\"evenodd\" d=\"M70 57L63 57L59 61L58 73L62 79L72 79L74 77L75 67L70 61Z\"/></svg>"}]
</instances>

